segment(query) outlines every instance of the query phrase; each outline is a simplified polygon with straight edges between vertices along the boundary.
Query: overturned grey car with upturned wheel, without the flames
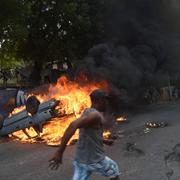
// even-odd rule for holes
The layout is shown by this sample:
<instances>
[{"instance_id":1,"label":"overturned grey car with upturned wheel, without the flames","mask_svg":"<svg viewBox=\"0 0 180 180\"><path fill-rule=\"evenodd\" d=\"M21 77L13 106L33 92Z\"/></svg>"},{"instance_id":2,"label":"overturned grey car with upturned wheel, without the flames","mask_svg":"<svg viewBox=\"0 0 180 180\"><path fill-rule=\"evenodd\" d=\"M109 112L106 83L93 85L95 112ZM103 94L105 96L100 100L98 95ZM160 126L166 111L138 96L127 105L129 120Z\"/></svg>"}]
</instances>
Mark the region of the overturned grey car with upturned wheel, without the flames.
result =
<instances>
[{"instance_id":1,"label":"overturned grey car with upturned wheel, without the flames","mask_svg":"<svg viewBox=\"0 0 180 180\"><path fill-rule=\"evenodd\" d=\"M33 127L37 134L39 134L42 132L43 123L55 116L54 109L58 103L58 101L52 99L39 105L39 101L35 96L29 97L26 103L26 109L1 122L0 136L6 136L13 132L23 130L24 133L30 137L25 130L30 127Z\"/></svg>"}]
</instances>

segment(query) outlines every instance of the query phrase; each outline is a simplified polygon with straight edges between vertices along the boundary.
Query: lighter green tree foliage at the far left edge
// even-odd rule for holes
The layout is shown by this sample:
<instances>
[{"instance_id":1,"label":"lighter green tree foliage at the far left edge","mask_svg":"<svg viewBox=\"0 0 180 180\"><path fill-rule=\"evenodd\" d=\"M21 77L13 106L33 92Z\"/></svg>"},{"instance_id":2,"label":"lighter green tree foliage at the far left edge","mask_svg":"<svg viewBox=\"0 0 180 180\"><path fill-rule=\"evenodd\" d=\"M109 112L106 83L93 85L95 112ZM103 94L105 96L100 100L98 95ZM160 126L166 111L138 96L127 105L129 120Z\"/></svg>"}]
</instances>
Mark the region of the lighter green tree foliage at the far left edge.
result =
<instances>
[{"instance_id":1,"label":"lighter green tree foliage at the far left edge","mask_svg":"<svg viewBox=\"0 0 180 180\"><path fill-rule=\"evenodd\" d=\"M24 21L27 11L22 2L17 0L0 1L1 68L19 66L22 62L17 56L19 44L27 35Z\"/></svg>"}]
</instances>

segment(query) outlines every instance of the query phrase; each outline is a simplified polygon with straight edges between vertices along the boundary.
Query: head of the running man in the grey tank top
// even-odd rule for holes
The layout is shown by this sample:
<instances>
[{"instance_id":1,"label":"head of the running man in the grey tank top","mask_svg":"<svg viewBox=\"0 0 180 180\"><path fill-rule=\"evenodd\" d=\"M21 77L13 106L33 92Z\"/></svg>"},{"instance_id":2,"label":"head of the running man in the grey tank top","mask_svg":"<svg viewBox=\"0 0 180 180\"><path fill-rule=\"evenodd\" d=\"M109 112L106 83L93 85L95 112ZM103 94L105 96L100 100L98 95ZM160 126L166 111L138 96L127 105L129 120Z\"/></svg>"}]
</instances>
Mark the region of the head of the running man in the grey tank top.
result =
<instances>
[{"instance_id":1,"label":"head of the running man in the grey tank top","mask_svg":"<svg viewBox=\"0 0 180 180\"><path fill-rule=\"evenodd\" d=\"M97 110L104 112L107 108L109 95L106 91L102 89L96 89L90 94L92 101L92 107Z\"/></svg>"}]
</instances>

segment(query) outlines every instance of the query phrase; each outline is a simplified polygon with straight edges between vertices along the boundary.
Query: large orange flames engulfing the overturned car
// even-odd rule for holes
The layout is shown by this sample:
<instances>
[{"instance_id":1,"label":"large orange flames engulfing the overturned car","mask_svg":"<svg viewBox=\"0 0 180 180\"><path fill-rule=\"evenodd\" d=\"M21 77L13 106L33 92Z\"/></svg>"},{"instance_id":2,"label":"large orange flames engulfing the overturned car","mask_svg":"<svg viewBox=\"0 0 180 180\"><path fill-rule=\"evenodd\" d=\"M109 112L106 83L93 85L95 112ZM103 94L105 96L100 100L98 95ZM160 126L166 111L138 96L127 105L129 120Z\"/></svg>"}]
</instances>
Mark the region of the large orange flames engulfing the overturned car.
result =
<instances>
[{"instance_id":1,"label":"large orange flames engulfing the overturned car","mask_svg":"<svg viewBox=\"0 0 180 180\"><path fill-rule=\"evenodd\" d=\"M15 132L11 137L19 139L22 142L45 142L49 145L57 145L63 136L69 124L77 119L85 108L91 106L90 93L98 88L108 90L108 84L105 81L100 83L90 82L87 79L84 81L72 82L67 77L60 77L55 85L49 87L47 94L38 94L36 97L39 101L45 102L52 98L59 100L60 105L56 110L65 117L55 118L43 126L43 133L37 136L33 128L26 129L27 133L33 137L28 138L22 131ZM24 107L21 107L22 109ZM20 112L22 109L15 109L14 113ZM38 137L38 138L37 138ZM78 132L75 133L72 139L78 139Z\"/></svg>"}]
</instances>

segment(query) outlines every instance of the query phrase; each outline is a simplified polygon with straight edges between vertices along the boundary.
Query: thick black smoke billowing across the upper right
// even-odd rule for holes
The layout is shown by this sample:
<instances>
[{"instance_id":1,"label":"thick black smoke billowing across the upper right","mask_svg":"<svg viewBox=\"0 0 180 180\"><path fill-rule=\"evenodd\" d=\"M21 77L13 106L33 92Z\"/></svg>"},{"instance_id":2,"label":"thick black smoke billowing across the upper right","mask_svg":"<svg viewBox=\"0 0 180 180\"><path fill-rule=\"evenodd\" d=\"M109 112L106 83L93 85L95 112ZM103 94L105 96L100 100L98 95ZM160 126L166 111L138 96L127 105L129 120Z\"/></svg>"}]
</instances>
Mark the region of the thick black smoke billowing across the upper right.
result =
<instances>
[{"instance_id":1,"label":"thick black smoke billowing across the upper right","mask_svg":"<svg viewBox=\"0 0 180 180\"><path fill-rule=\"evenodd\" d=\"M83 68L107 79L127 103L167 86L180 72L179 20L179 0L112 0L104 13L107 38L89 50Z\"/></svg>"}]
</instances>

